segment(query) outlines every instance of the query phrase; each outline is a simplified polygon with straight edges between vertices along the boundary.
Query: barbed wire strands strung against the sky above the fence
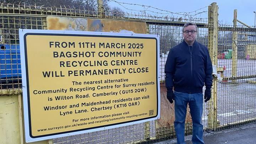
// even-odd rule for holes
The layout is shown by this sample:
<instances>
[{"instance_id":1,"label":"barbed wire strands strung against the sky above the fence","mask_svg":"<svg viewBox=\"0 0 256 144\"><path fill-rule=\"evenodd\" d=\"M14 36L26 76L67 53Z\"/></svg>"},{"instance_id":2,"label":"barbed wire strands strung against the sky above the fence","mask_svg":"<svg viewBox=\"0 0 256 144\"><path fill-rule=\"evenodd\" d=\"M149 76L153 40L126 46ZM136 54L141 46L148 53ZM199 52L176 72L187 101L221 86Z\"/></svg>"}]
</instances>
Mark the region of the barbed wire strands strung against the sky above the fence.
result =
<instances>
[{"instance_id":1,"label":"barbed wire strands strung against the sky above the fence","mask_svg":"<svg viewBox=\"0 0 256 144\"><path fill-rule=\"evenodd\" d=\"M191 12L172 12L172 11L167 11L167 10L162 10L162 9L159 9L157 7L153 7L153 6L147 6L147 5L140 5L140 4L130 4L130 3L126 3L126 2L118 2L116 0L107 0L107 1L113 1L113 2L116 2L117 4L121 5L122 7L124 7L125 9L127 10L131 10L131 11L139 11L139 12L145 12L145 11L149 11L149 12L153 12L153 13L156 13L156 14L177 14L177 15L183 15L183 16L188 16L190 13L192 12L197 12L199 10L202 10L206 7L202 7L200 9L197 9L197 10L194 10L194 11L191 11ZM142 6L142 7L148 7L148 8L153 8L153 9L156 9L156 10L160 10L160 11L165 11L167 13L162 13L162 12L154 12L154 11L151 11L151 10L133 10L133 9L128 9L127 7L123 6L122 4L127 4L127 5L137 5L137 6ZM202 12L199 12L197 14L194 14L194 15L190 15L190 16L195 16L195 15L198 15L198 14L202 14L204 12L207 12L207 11L202 11ZM183 14L182 14L183 13Z\"/></svg>"}]
</instances>

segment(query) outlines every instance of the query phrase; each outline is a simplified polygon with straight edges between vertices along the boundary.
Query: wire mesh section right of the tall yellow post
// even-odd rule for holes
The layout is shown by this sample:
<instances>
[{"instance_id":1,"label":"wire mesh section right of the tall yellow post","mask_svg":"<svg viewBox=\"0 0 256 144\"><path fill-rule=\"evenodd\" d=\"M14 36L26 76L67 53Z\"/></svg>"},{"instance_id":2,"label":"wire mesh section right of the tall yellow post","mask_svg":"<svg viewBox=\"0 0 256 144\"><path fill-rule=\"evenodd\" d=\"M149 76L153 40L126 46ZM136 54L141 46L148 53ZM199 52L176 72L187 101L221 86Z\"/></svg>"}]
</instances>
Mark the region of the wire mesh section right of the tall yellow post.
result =
<instances>
[{"instance_id":1,"label":"wire mesh section right of the tall yellow post","mask_svg":"<svg viewBox=\"0 0 256 144\"><path fill-rule=\"evenodd\" d=\"M219 27L217 119L224 127L256 118L256 29Z\"/></svg>"}]
</instances>

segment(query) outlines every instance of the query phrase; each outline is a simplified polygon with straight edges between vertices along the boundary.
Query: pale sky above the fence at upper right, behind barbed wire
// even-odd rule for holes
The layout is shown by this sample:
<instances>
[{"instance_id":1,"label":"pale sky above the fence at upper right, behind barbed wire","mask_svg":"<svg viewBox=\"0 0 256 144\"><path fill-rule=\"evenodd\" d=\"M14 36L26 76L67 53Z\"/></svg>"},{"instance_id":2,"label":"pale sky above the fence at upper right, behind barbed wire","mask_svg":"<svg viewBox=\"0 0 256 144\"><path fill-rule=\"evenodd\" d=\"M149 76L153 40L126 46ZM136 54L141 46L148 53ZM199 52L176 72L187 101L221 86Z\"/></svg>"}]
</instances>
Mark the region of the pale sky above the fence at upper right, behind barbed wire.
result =
<instances>
[{"instance_id":1,"label":"pale sky above the fence at upper right, behind barbed wire","mask_svg":"<svg viewBox=\"0 0 256 144\"><path fill-rule=\"evenodd\" d=\"M233 25L233 13L234 9L238 10L238 20L246 23L249 26L254 26L255 14L253 11L256 11L256 0L115 0L118 2L126 2L131 4L140 4L146 6L157 7L162 10L167 10L171 12L191 12L205 7L204 9L198 10L198 12L208 11L208 5L212 2L217 2L219 6L219 22L223 24ZM123 11L130 12L121 5L117 4L114 1L109 2L113 6L121 8ZM166 13L164 11L159 11L156 9L127 5L122 4L128 9L133 10L151 10L155 12ZM136 11L134 11L136 12ZM138 13L138 12L136 12ZM149 12L150 13L150 12ZM195 12L192 14L196 14ZM152 13L151 13L152 15ZM157 16L162 16L162 14L156 14ZM170 15L170 14L169 14ZM181 17L182 15L174 15L174 17ZM197 15L198 18L207 18L207 12Z\"/></svg>"}]
</instances>

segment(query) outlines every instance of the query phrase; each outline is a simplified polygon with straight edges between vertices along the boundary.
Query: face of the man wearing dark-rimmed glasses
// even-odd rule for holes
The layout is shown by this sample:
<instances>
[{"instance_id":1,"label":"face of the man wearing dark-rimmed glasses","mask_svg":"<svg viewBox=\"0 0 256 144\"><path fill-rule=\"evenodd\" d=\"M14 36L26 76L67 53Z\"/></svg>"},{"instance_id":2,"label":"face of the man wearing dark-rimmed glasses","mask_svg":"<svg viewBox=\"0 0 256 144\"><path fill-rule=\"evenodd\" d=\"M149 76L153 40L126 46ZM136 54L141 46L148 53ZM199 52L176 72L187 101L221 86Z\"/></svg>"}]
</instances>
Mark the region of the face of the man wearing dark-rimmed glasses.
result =
<instances>
[{"instance_id":1,"label":"face of the man wearing dark-rimmed glasses","mask_svg":"<svg viewBox=\"0 0 256 144\"><path fill-rule=\"evenodd\" d=\"M194 34L192 34L191 31L195 31ZM186 34L186 32L188 32L188 34ZM196 36L197 36L197 32L196 32L196 27L194 25L189 25L189 26L184 28L184 30L183 30L183 37L184 37L184 40L187 43L194 42L196 40Z\"/></svg>"}]
</instances>

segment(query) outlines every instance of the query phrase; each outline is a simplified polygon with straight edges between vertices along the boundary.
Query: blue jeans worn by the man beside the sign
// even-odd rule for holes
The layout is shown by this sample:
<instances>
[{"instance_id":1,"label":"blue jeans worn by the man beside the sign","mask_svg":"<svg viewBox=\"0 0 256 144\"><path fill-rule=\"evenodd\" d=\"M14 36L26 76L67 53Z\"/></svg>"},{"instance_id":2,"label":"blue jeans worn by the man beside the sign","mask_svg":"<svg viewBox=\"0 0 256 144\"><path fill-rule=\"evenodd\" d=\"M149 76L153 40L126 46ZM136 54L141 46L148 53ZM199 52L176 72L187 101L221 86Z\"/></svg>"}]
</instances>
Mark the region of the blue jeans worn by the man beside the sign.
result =
<instances>
[{"instance_id":1,"label":"blue jeans worn by the man beside the sign","mask_svg":"<svg viewBox=\"0 0 256 144\"><path fill-rule=\"evenodd\" d=\"M204 144L203 142L203 125L201 123L203 113L203 94L187 94L183 92L174 92L175 103L175 122L177 144L185 143L185 119L187 113L187 104L190 107L190 114L193 123L193 144Z\"/></svg>"}]
</instances>

